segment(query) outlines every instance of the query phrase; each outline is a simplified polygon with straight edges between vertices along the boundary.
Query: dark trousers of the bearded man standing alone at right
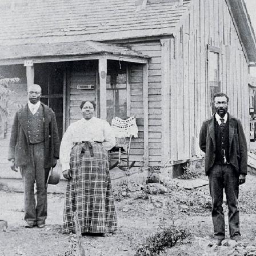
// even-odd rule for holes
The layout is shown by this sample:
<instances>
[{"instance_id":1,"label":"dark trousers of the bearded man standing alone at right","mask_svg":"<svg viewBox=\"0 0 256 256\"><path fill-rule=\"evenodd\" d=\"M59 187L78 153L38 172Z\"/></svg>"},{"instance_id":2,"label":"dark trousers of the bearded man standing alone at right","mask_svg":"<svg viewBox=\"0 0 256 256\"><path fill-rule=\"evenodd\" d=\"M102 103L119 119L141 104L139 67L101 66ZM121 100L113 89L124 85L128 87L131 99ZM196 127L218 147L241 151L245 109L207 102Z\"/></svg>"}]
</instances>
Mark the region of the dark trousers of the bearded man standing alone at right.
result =
<instances>
[{"instance_id":1,"label":"dark trousers of the bearded man standing alone at right","mask_svg":"<svg viewBox=\"0 0 256 256\"><path fill-rule=\"evenodd\" d=\"M225 239L225 217L223 213L223 189L225 189L227 206L229 207L230 238L240 236L238 209L238 174L231 165L214 165L209 174L210 194L213 202L214 237Z\"/></svg>"}]
</instances>

